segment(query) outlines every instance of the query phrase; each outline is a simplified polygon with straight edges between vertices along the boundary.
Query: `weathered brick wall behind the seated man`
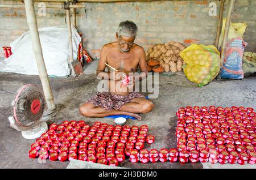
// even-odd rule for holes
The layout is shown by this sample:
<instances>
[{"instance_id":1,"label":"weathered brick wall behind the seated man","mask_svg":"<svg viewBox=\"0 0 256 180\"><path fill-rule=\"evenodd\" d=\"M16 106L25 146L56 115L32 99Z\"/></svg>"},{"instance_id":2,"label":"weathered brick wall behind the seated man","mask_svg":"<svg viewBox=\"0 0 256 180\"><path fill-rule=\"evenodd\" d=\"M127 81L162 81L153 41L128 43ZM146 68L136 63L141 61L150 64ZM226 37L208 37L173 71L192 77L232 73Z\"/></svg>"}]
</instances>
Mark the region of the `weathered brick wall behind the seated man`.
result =
<instances>
[{"instance_id":1,"label":"weathered brick wall behind the seated man","mask_svg":"<svg viewBox=\"0 0 256 180\"><path fill-rule=\"evenodd\" d=\"M219 11L220 2L216 0L84 3L86 12L84 9L77 11L77 29L83 33L85 48L96 59L100 57L102 45L115 40L118 24L127 19L137 24L139 31L135 41L145 50L156 43L183 42L187 38L199 39L201 43L210 45L214 44L217 29L217 17L208 14L210 2L216 2ZM0 0L0 3L10 2ZM236 1L236 11L232 16L233 22L247 23L245 41L249 46L246 50L254 52L255 5L256 1ZM66 27L61 9L47 8L46 16L37 17L39 27ZM0 8L0 22L0 47L9 46L16 37L28 31L24 8ZM0 56L3 57L2 49Z\"/></svg>"}]
</instances>

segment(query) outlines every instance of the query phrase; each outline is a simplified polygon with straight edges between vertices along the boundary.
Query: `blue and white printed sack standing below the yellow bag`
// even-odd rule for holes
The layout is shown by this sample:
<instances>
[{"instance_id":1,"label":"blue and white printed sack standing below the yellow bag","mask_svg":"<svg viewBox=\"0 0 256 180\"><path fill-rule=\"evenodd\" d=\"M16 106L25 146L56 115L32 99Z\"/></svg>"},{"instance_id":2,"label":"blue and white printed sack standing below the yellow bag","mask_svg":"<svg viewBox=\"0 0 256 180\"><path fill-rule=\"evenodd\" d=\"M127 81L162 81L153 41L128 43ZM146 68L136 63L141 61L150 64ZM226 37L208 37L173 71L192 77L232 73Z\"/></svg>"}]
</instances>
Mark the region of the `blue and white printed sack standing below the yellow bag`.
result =
<instances>
[{"instance_id":1,"label":"blue and white printed sack standing below the yellow bag","mask_svg":"<svg viewBox=\"0 0 256 180\"><path fill-rule=\"evenodd\" d=\"M241 37L233 38L226 45L221 78L243 79L242 58L246 42Z\"/></svg>"}]
</instances>

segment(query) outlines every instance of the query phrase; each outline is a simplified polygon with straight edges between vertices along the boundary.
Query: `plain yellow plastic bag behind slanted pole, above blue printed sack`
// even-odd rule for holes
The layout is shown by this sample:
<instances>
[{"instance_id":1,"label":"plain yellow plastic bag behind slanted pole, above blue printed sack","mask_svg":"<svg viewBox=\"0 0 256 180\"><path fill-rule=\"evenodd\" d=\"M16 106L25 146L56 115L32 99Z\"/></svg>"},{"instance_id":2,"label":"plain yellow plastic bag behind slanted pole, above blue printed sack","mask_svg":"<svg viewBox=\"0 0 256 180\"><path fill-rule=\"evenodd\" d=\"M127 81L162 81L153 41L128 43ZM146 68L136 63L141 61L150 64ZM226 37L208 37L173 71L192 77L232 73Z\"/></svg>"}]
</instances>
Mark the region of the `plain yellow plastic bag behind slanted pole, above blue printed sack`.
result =
<instances>
[{"instance_id":1,"label":"plain yellow plastic bag behind slanted pole, above blue printed sack","mask_svg":"<svg viewBox=\"0 0 256 180\"><path fill-rule=\"evenodd\" d=\"M218 48L220 48L220 46L222 45L222 41L224 38L225 25L226 25L226 18L222 20L222 29L221 29ZM230 23L228 40L231 40L232 38L238 38L238 37L243 38L243 33L245 33L246 27L247 27L246 23Z\"/></svg>"}]
</instances>

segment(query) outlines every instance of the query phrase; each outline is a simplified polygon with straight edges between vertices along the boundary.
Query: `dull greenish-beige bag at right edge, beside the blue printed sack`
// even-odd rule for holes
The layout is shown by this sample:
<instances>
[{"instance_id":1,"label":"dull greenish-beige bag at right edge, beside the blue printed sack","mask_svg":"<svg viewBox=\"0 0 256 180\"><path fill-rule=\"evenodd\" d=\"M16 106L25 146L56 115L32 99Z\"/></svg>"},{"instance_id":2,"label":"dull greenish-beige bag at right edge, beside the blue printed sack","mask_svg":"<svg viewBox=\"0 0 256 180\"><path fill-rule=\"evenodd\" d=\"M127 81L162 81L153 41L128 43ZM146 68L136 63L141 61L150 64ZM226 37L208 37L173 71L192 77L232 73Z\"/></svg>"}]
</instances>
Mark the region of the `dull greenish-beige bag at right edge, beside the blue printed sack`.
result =
<instances>
[{"instance_id":1,"label":"dull greenish-beige bag at right edge, beside the blue printed sack","mask_svg":"<svg viewBox=\"0 0 256 180\"><path fill-rule=\"evenodd\" d=\"M243 53L242 68L245 76L256 72L256 53L251 53L251 52Z\"/></svg>"}]
</instances>

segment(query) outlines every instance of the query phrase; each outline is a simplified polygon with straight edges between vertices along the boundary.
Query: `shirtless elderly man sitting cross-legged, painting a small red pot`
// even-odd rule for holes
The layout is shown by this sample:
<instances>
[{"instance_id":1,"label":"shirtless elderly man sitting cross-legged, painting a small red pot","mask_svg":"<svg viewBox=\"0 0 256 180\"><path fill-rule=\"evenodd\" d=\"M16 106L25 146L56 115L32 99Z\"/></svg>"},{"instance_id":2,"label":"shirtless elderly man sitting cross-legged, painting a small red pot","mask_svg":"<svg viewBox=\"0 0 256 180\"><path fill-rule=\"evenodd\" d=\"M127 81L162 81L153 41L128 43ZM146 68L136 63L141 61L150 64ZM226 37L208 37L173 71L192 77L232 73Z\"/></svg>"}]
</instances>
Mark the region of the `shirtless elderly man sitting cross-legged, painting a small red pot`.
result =
<instances>
[{"instance_id":1,"label":"shirtless elderly man sitting cross-legged, painting a small red pot","mask_svg":"<svg viewBox=\"0 0 256 180\"><path fill-rule=\"evenodd\" d=\"M141 120L139 113L148 113L154 104L141 93L134 92L134 82L146 78L146 55L142 46L134 44L137 35L137 25L130 21L119 24L116 33L116 42L103 46L98 63L98 78L108 79L108 92L98 92L79 108L85 117L106 117L109 115L130 115ZM115 68L113 71L106 64ZM123 85L121 82L129 72L137 72L138 66L141 74L131 75L131 82ZM111 70L111 71L110 71ZM114 87L114 88L113 88ZM114 91L113 91L114 89ZM133 89L131 91L131 89Z\"/></svg>"}]
</instances>

